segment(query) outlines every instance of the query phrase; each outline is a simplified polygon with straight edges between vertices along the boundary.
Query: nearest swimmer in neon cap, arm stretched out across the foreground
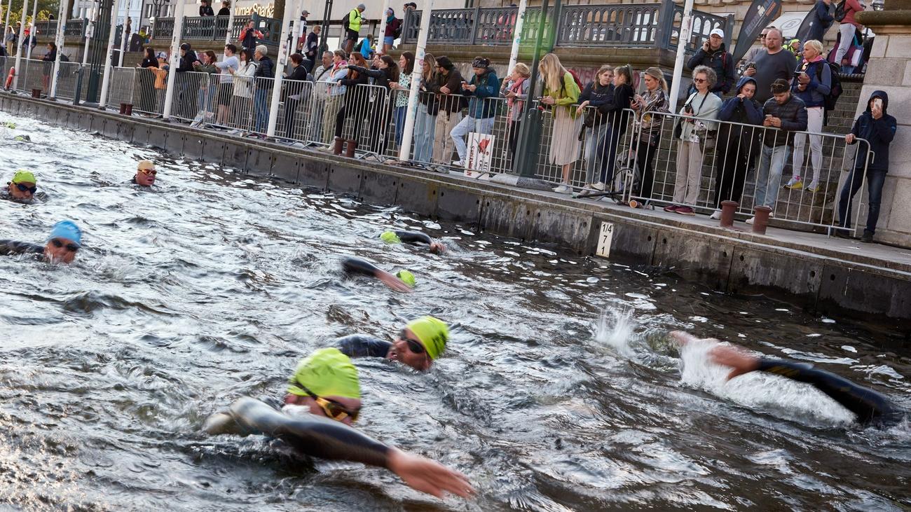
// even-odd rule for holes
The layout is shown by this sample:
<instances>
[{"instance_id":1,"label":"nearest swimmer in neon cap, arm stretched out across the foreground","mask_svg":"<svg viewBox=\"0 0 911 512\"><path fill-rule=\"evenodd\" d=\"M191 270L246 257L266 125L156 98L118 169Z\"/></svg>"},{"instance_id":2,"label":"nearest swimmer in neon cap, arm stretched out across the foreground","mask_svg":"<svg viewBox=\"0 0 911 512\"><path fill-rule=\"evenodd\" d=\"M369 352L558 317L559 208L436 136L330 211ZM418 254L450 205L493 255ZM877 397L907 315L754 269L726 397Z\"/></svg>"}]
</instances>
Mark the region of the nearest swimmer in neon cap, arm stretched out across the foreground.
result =
<instances>
[{"instance_id":1,"label":"nearest swimmer in neon cap, arm stretched out across the foreground","mask_svg":"<svg viewBox=\"0 0 911 512\"><path fill-rule=\"evenodd\" d=\"M203 430L209 435L269 435L307 456L385 467L408 486L435 497L474 494L458 471L352 428L361 415L361 386L357 369L338 349L323 348L304 358L288 384L284 414L259 400L241 398L228 412L211 415Z\"/></svg>"}]
</instances>

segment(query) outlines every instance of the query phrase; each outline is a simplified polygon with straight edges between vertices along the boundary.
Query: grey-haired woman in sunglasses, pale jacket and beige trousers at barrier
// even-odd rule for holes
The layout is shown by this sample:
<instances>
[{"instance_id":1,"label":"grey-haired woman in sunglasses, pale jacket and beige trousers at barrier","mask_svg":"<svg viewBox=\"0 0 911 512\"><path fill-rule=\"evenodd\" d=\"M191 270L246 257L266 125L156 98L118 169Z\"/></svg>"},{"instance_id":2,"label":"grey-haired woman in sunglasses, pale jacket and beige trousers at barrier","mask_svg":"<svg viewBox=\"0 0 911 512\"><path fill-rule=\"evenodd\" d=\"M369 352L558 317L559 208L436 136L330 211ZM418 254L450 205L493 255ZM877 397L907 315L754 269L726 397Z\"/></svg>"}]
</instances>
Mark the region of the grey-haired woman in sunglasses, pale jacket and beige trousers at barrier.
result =
<instances>
[{"instance_id":1,"label":"grey-haired woman in sunglasses, pale jacket and beige trousers at barrier","mask_svg":"<svg viewBox=\"0 0 911 512\"><path fill-rule=\"evenodd\" d=\"M677 142L674 204L664 207L664 211L681 215L695 215L692 205L699 199L702 162L705 153L715 142L713 137L717 123L711 121L718 118L718 111L722 108L722 99L711 93L711 87L715 83L715 71L711 67L693 69L692 83L696 86L696 92L687 98L680 112L683 118L678 119L681 136Z\"/></svg>"}]
</instances>

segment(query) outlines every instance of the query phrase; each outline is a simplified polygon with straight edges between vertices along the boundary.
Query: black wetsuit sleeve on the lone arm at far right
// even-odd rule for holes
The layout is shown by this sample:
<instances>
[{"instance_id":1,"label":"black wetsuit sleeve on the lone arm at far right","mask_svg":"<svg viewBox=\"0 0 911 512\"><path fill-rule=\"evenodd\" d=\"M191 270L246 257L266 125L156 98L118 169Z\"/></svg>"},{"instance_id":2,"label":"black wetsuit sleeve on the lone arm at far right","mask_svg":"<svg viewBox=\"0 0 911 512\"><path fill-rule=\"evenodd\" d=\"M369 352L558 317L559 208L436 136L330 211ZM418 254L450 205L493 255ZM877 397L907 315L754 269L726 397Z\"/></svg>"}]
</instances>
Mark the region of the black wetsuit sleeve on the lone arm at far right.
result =
<instances>
[{"instance_id":1,"label":"black wetsuit sleeve on the lone arm at far right","mask_svg":"<svg viewBox=\"0 0 911 512\"><path fill-rule=\"evenodd\" d=\"M857 415L861 423L871 423L896 415L895 407L883 394L857 385L851 381L817 370L809 364L798 364L777 359L759 360L760 372L781 375L793 381L812 384L816 389L829 395L835 402Z\"/></svg>"}]
</instances>

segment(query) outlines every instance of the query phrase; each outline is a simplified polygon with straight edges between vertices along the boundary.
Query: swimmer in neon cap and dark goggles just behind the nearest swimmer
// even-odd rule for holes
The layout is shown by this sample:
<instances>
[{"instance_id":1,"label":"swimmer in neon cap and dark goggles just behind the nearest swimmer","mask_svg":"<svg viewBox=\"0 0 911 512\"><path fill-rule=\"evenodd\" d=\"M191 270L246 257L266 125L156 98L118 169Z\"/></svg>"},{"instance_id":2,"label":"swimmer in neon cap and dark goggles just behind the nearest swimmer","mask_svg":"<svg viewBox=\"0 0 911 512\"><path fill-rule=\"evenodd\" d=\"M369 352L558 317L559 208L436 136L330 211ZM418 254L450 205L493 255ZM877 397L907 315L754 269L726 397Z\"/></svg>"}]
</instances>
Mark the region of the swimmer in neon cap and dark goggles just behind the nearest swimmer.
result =
<instances>
[{"instance_id":1,"label":"swimmer in neon cap and dark goggles just behind the nearest swimmer","mask_svg":"<svg viewBox=\"0 0 911 512\"><path fill-rule=\"evenodd\" d=\"M448 340L449 327L445 322L425 316L405 325L391 343L352 334L339 338L335 345L350 357L384 357L424 372L443 354Z\"/></svg>"}]
</instances>

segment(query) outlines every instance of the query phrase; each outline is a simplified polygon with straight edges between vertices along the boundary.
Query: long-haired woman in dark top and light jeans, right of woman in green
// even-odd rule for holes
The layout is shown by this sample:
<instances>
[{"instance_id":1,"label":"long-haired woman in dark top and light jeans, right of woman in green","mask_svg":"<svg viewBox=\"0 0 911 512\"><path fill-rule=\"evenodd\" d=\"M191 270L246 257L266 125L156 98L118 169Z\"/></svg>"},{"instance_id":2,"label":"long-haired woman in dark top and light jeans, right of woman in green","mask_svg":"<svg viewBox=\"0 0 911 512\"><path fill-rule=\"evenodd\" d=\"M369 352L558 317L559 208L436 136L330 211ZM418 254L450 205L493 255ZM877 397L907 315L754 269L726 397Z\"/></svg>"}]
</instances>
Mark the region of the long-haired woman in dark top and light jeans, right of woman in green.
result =
<instances>
[{"instance_id":1,"label":"long-haired woman in dark top and light jeans, right of woman in green","mask_svg":"<svg viewBox=\"0 0 911 512\"><path fill-rule=\"evenodd\" d=\"M603 190L604 183L599 182L599 158L598 148L607 148L604 142L608 138L610 127L608 117L601 115L598 108L614 98L614 68L612 66L602 66L595 79L585 87L585 90L578 97L579 105L576 109L576 116L581 117L582 130L586 130L585 136L585 161L586 161L586 178L583 190Z\"/></svg>"}]
</instances>

